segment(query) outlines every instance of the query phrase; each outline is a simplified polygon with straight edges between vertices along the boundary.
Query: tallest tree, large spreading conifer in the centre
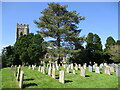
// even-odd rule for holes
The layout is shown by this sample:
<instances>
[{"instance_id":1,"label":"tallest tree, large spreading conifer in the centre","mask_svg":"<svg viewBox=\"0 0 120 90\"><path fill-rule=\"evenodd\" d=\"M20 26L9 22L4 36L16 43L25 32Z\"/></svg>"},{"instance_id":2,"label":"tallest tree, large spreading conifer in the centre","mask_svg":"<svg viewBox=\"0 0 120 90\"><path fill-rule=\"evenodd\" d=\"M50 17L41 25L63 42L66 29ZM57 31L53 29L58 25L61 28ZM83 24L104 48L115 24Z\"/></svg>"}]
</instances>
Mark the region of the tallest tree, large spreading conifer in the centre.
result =
<instances>
[{"instance_id":1,"label":"tallest tree, large spreading conifer in the centre","mask_svg":"<svg viewBox=\"0 0 120 90\"><path fill-rule=\"evenodd\" d=\"M73 49L75 41L79 38L81 30L78 24L85 17L79 16L76 11L68 11L67 6L61 6L59 3L49 3L48 8L42 12L39 21L34 21L40 31L42 37L51 37L49 47L53 50L60 51L62 49ZM60 63L61 54L58 52L58 63Z\"/></svg>"}]
</instances>

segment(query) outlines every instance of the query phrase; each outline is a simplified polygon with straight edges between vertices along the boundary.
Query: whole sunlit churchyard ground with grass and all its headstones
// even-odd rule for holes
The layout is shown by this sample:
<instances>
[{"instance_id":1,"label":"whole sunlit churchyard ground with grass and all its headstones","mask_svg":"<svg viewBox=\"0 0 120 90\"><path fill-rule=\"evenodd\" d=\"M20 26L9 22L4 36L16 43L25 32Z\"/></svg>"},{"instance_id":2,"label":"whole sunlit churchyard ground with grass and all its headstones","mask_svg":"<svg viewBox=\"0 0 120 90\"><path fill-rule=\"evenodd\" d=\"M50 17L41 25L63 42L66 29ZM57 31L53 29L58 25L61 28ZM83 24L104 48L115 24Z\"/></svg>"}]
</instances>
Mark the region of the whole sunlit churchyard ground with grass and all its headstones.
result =
<instances>
[{"instance_id":1,"label":"whole sunlit churchyard ground with grass and all its headstones","mask_svg":"<svg viewBox=\"0 0 120 90\"><path fill-rule=\"evenodd\" d=\"M43 64L2 70L2 88L118 88L120 65Z\"/></svg>"}]
</instances>

